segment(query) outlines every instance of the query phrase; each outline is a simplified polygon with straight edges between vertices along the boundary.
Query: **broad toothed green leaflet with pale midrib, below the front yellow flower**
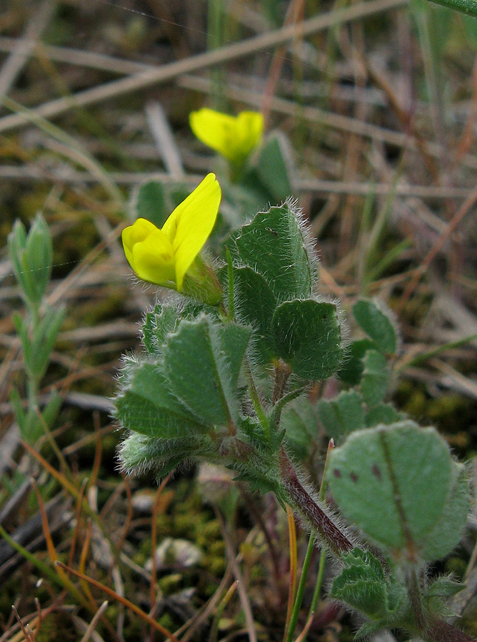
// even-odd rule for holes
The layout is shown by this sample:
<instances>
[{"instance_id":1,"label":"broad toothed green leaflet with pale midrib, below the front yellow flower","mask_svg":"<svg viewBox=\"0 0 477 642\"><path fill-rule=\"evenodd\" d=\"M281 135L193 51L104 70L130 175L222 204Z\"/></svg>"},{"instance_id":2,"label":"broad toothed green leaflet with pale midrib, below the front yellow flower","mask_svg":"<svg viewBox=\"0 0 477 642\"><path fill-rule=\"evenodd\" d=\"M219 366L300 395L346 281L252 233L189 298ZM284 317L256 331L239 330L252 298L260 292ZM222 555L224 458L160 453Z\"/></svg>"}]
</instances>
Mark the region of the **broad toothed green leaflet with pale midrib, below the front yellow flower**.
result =
<instances>
[{"instance_id":1,"label":"broad toothed green leaflet with pale midrib, below the front yellow flower","mask_svg":"<svg viewBox=\"0 0 477 642\"><path fill-rule=\"evenodd\" d=\"M171 389L208 426L238 422L236 381L251 329L219 327L210 317L182 320L164 345Z\"/></svg>"}]
</instances>

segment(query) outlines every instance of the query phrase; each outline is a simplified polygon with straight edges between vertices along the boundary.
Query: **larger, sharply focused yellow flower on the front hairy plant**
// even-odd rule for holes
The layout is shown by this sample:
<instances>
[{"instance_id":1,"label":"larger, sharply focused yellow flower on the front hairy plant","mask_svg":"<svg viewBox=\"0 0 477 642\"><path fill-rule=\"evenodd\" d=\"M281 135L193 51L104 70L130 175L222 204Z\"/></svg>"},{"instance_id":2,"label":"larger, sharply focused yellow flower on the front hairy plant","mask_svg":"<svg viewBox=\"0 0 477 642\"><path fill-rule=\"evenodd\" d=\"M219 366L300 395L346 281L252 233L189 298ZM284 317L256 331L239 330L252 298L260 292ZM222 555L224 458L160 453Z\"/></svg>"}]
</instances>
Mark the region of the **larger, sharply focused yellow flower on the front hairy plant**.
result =
<instances>
[{"instance_id":1,"label":"larger, sharply focused yellow flower on the front hairy plant","mask_svg":"<svg viewBox=\"0 0 477 642\"><path fill-rule=\"evenodd\" d=\"M211 270L198 255L214 228L220 201L220 185L210 173L176 207L161 230L145 218L124 228L124 253L136 275L178 292L190 289L184 290L184 279L191 275L200 288Z\"/></svg>"}]
</instances>

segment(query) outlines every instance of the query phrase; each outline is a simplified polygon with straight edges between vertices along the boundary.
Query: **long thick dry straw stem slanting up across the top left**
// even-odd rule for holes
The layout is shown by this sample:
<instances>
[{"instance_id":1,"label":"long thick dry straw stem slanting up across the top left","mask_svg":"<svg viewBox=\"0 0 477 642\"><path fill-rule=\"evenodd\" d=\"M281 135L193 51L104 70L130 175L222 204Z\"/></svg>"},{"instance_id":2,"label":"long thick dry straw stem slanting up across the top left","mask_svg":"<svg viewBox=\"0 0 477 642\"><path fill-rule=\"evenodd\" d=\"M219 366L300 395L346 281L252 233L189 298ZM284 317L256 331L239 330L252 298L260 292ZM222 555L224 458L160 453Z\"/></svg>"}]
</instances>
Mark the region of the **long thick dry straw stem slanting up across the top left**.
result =
<instances>
[{"instance_id":1,"label":"long thick dry straw stem slanting up across the top left","mask_svg":"<svg viewBox=\"0 0 477 642\"><path fill-rule=\"evenodd\" d=\"M303 21L299 25L286 26L268 34L255 36L248 40L221 47L221 49L209 51L206 54L191 56L185 60L151 68L127 78L120 78L98 87L86 89L74 94L74 96L58 98L31 110L30 116L42 118L59 116L74 107L84 107L110 98L117 98L117 96L122 96L131 91L139 91L139 89L170 81L173 78L184 75L184 73L199 71L199 69L250 56L258 51L273 49L275 46L292 41L297 35L304 38L336 24L362 19L406 4L407 0L368 0L346 9L330 11L327 14L321 14ZM0 119L0 132L9 131L28 122L29 118L26 118L23 113L4 116L4 118Z\"/></svg>"}]
</instances>

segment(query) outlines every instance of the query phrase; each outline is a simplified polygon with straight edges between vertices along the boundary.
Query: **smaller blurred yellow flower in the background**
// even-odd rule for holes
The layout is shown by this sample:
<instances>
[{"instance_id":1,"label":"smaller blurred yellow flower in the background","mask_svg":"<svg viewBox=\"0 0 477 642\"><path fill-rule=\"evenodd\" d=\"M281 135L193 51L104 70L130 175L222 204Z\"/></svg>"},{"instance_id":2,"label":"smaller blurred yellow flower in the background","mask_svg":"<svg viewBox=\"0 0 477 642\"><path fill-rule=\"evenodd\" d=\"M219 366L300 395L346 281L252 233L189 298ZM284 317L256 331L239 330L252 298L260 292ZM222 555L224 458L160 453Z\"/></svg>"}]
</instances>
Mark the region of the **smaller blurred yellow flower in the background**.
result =
<instances>
[{"instance_id":1,"label":"smaller blurred yellow flower in the background","mask_svg":"<svg viewBox=\"0 0 477 642\"><path fill-rule=\"evenodd\" d=\"M204 107L191 112L189 123L199 141L238 165L256 148L263 133L263 116L258 111L229 116Z\"/></svg>"}]
</instances>

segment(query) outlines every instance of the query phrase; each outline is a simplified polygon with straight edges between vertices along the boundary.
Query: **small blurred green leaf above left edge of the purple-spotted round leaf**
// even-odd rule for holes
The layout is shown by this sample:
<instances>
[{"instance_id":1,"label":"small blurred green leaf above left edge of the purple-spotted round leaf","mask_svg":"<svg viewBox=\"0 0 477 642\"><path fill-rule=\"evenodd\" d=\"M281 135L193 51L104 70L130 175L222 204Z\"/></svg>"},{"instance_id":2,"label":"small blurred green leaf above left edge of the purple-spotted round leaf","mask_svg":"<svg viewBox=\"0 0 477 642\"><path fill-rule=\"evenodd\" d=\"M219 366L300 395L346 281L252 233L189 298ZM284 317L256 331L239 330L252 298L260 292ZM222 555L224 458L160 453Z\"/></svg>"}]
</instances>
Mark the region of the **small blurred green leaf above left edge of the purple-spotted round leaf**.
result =
<instances>
[{"instance_id":1,"label":"small blurred green leaf above left edge of the purple-spotted round leaf","mask_svg":"<svg viewBox=\"0 0 477 642\"><path fill-rule=\"evenodd\" d=\"M318 417L336 444L355 430L364 428L363 399L354 390L340 392L336 399L321 399L317 405Z\"/></svg>"}]
</instances>

